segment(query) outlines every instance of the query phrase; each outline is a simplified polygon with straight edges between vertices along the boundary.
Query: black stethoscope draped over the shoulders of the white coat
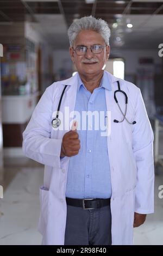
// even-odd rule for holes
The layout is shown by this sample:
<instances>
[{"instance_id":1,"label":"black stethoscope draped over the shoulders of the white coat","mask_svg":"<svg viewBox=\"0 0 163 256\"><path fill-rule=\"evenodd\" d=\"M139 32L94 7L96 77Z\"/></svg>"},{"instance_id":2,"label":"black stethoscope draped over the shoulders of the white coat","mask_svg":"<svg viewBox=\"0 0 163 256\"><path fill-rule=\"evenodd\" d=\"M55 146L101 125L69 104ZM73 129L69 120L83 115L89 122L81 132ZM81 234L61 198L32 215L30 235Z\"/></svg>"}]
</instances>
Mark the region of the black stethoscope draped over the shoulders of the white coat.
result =
<instances>
[{"instance_id":1,"label":"black stethoscope draped over the shoulders of the white coat","mask_svg":"<svg viewBox=\"0 0 163 256\"><path fill-rule=\"evenodd\" d=\"M136 121L133 121L133 123L130 123L130 122L128 121L128 119L126 118L127 104L128 104L128 96L127 96L127 94L126 94L125 92L123 92L123 90L121 90L120 82L117 81L117 83L118 83L118 90L115 90L115 92L114 92L114 99L115 99L115 101L116 101L116 103L117 103L117 105L118 105L118 108L120 109L120 111L121 111L121 113L122 113L122 115L123 115L123 119L122 119L121 121L118 121L118 120L114 119L114 122L115 122L115 123L122 123L122 122L124 121L124 119L126 119L126 121L127 121L129 124L136 124ZM62 90L62 94L61 94L61 96L60 96L60 100L59 100L59 104L58 104L58 109L57 109L56 118L54 118L54 119L52 120L52 126L53 126L54 128L59 127L60 124L61 124L61 120L59 119L59 109L60 109L62 97L63 97L63 95L64 95L64 92L65 92L66 87L67 87L67 86L64 87L64 89ZM122 112L122 109L121 109L121 107L120 107L118 101L117 101L116 93L123 93L124 96L125 96L126 108L125 108L124 114L123 114L123 112Z\"/></svg>"}]
</instances>

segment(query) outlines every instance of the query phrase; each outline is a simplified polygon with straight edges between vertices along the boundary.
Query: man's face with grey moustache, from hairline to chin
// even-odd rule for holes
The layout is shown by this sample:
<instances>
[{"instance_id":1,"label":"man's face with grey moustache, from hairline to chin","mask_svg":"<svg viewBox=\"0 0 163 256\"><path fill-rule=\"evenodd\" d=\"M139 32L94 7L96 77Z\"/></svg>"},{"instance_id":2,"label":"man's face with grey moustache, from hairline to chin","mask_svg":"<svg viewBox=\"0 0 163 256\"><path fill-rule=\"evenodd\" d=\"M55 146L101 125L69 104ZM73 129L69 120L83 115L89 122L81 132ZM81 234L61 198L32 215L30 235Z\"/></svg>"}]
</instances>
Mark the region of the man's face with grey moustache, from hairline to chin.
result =
<instances>
[{"instance_id":1,"label":"man's face with grey moustache, from hairline to chin","mask_svg":"<svg viewBox=\"0 0 163 256\"><path fill-rule=\"evenodd\" d=\"M87 48L90 48L92 45L105 46L105 41L103 37L95 31L81 31L74 40L73 48L70 47L71 59L76 65L79 74L84 76L100 74L109 58L109 46L104 47L103 51L98 54L94 54L91 52L91 49L87 49L84 55L79 56L74 51L77 46L87 46Z\"/></svg>"}]
</instances>

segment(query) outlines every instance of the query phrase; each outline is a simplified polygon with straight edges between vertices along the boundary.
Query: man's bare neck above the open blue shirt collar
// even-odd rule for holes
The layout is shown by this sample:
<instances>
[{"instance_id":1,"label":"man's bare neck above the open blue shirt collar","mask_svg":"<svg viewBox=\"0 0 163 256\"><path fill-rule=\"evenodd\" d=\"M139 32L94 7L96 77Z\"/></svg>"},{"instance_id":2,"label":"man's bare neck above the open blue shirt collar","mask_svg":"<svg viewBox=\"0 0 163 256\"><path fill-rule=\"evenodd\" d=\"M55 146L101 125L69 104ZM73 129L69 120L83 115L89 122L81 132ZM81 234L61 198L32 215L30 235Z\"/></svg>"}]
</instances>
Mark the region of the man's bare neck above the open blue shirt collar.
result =
<instances>
[{"instance_id":1,"label":"man's bare neck above the open blue shirt collar","mask_svg":"<svg viewBox=\"0 0 163 256\"><path fill-rule=\"evenodd\" d=\"M79 74L79 75L86 89L92 93L95 88L99 87L103 74L104 74L104 70L102 70L102 72L98 75L90 75L90 76L84 76L83 74Z\"/></svg>"}]
</instances>

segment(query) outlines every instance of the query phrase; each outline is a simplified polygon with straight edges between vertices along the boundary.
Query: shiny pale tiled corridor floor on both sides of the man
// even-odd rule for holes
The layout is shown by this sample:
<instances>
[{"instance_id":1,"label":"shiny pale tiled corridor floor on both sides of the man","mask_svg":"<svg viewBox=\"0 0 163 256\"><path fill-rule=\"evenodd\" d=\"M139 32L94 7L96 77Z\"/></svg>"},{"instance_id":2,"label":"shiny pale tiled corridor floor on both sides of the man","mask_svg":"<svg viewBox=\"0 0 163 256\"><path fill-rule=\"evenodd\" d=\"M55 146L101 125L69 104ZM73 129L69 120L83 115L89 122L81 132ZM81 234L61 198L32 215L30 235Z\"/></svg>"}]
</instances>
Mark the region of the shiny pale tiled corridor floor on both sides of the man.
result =
<instances>
[{"instance_id":1,"label":"shiny pale tiled corridor floor on both sides of the man","mask_svg":"<svg viewBox=\"0 0 163 256\"><path fill-rule=\"evenodd\" d=\"M4 199L0 200L0 245L40 245L37 232L39 187L43 166L28 159L5 161ZM163 199L158 187L163 185L163 169L155 177L155 214L134 230L135 245L163 245Z\"/></svg>"}]
</instances>

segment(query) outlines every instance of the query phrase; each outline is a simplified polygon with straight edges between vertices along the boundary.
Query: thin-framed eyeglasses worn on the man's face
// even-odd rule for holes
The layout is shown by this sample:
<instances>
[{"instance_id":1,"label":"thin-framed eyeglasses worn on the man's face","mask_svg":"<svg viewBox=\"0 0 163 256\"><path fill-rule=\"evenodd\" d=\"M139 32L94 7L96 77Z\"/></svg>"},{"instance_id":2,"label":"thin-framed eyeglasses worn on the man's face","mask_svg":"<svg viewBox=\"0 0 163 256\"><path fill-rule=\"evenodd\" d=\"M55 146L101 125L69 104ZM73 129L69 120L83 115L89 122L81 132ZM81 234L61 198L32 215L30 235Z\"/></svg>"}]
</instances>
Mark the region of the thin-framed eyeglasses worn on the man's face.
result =
<instances>
[{"instance_id":1,"label":"thin-framed eyeglasses worn on the man's face","mask_svg":"<svg viewBox=\"0 0 163 256\"><path fill-rule=\"evenodd\" d=\"M73 48L73 51L77 53L77 55L84 55L87 51L87 49L91 49L91 52L93 54L99 54L103 51L103 48L105 48L107 45L92 45L90 48L87 46L77 46L75 49Z\"/></svg>"}]
</instances>

